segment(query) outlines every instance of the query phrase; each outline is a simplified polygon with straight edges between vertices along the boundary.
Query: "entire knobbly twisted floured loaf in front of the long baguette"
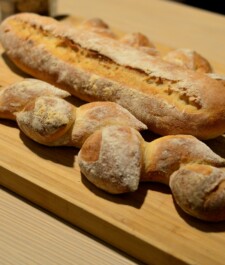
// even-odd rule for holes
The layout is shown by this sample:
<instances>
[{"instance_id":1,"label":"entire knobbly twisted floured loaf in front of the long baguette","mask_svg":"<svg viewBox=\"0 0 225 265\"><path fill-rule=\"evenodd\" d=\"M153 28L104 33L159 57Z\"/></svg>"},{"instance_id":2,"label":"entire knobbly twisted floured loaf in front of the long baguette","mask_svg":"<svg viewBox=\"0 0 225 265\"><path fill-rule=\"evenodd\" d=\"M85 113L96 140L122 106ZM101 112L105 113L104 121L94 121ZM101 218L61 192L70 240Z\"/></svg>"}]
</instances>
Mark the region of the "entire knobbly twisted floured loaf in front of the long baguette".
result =
<instances>
[{"instance_id":1,"label":"entire knobbly twisted floured loaf in front of the long baguette","mask_svg":"<svg viewBox=\"0 0 225 265\"><path fill-rule=\"evenodd\" d=\"M225 159L190 135L151 142L147 127L113 102L75 107L69 94L40 80L25 79L0 91L0 118L15 120L28 137L48 146L80 148L81 172L109 193L133 192L142 181L170 186L192 216L225 219Z\"/></svg>"}]
</instances>

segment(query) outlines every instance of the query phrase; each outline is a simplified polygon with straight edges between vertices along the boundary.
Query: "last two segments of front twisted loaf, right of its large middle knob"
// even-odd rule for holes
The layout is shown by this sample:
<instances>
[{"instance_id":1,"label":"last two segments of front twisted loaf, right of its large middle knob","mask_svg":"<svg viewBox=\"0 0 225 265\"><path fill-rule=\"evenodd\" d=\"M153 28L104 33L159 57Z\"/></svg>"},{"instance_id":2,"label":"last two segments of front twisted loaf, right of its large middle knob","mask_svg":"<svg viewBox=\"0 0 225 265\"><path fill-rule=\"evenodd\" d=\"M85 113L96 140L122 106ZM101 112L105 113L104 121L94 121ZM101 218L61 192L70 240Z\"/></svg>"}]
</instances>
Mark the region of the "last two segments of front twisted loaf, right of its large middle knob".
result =
<instances>
[{"instance_id":1,"label":"last two segments of front twisted loaf, right of its large middle knob","mask_svg":"<svg viewBox=\"0 0 225 265\"><path fill-rule=\"evenodd\" d=\"M175 202L207 221L225 220L225 160L190 135L145 144L142 181L170 186Z\"/></svg>"}]
</instances>

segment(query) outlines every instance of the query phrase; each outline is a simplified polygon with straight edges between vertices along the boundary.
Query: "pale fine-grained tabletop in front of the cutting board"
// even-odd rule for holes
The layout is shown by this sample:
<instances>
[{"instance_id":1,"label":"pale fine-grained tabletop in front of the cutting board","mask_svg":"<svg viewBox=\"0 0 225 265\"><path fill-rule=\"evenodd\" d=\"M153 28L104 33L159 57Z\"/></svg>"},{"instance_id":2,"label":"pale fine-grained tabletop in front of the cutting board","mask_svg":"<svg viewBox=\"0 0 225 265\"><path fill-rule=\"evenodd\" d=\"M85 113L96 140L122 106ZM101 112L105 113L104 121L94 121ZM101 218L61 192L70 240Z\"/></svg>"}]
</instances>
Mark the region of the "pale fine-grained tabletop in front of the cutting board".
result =
<instances>
[{"instance_id":1,"label":"pale fine-grained tabletop in front of the cutting board","mask_svg":"<svg viewBox=\"0 0 225 265\"><path fill-rule=\"evenodd\" d=\"M140 264L5 189L0 201L2 265Z\"/></svg>"}]
</instances>

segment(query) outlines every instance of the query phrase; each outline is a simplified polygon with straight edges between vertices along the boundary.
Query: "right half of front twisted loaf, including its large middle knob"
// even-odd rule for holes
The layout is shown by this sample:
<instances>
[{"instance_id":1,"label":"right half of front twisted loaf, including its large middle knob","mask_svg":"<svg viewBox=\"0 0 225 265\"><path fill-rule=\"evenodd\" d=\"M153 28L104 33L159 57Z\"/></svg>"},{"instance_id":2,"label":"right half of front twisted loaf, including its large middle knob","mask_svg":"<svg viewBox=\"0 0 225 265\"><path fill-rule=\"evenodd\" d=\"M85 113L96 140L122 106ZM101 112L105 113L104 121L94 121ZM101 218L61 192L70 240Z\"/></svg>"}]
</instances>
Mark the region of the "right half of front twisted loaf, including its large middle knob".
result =
<instances>
[{"instance_id":1,"label":"right half of front twisted loaf, including its large middle knob","mask_svg":"<svg viewBox=\"0 0 225 265\"><path fill-rule=\"evenodd\" d=\"M133 128L93 133L78 154L81 172L110 193L135 191L140 181L170 186L175 201L202 220L225 220L225 160L189 135L145 142Z\"/></svg>"}]
</instances>

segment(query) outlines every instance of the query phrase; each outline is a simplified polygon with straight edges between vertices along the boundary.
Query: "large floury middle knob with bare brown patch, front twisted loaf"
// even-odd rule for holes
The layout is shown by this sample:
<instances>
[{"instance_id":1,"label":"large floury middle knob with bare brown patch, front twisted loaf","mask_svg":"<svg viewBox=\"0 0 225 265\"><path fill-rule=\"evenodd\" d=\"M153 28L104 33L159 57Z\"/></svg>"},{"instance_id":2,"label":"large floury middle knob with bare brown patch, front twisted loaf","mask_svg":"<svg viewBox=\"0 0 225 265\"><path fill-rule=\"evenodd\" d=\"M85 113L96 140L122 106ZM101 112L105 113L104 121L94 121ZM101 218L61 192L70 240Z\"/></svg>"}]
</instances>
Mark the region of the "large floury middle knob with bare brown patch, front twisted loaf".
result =
<instances>
[{"instance_id":1,"label":"large floury middle knob with bare brown patch, front twisted loaf","mask_svg":"<svg viewBox=\"0 0 225 265\"><path fill-rule=\"evenodd\" d=\"M82 146L78 154L80 170L89 181L107 192L135 191L142 171L141 141L137 131L130 127L104 127Z\"/></svg>"}]
</instances>

